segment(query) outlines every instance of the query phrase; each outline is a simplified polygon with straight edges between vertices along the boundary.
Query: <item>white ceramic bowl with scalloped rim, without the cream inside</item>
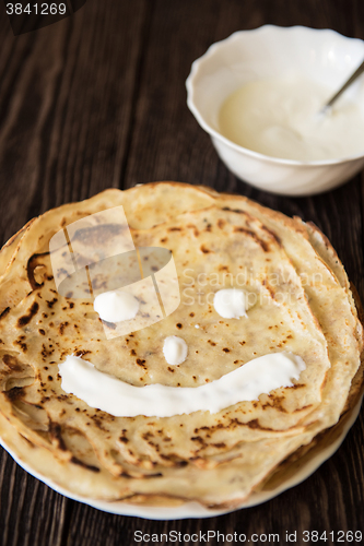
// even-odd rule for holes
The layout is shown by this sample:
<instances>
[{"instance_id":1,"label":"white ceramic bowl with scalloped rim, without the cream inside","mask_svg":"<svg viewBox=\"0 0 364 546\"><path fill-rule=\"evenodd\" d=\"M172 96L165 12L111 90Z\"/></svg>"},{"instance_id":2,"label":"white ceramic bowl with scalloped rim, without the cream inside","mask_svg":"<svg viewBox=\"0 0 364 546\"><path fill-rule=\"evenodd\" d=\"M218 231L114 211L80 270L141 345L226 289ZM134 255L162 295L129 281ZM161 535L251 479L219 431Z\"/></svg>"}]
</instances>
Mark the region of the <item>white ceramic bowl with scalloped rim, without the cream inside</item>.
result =
<instances>
[{"instance_id":1,"label":"white ceramic bowl with scalloped rim, without the cream inside","mask_svg":"<svg viewBox=\"0 0 364 546\"><path fill-rule=\"evenodd\" d=\"M363 40L333 31L266 25L237 32L213 44L193 62L186 82L187 104L210 134L221 159L238 178L274 193L319 193L359 173L364 166L364 154L321 162L269 157L223 136L219 131L219 111L227 96L245 83L292 73L325 84L333 94L363 59ZM364 114L364 78L345 93L352 95Z\"/></svg>"}]
</instances>

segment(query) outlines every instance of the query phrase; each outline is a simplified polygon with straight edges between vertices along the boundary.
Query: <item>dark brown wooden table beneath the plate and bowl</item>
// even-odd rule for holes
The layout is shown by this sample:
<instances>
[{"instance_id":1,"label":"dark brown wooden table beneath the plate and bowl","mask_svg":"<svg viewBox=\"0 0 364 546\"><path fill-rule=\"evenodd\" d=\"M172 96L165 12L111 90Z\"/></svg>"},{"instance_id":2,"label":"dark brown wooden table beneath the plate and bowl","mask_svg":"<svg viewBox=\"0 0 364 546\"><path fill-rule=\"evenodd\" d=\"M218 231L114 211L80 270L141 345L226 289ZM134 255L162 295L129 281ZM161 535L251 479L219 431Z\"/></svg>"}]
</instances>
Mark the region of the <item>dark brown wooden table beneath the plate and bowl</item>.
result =
<instances>
[{"instance_id":1,"label":"dark brown wooden table beneath the plate and bowl","mask_svg":"<svg viewBox=\"0 0 364 546\"><path fill-rule=\"evenodd\" d=\"M89 0L72 16L16 37L1 3L1 241L47 209L108 187L203 183L314 221L364 298L363 176L314 198L255 190L226 170L187 109L191 62L213 41L265 23L329 27L363 39L364 2ZM336 544L339 535L332 541L330 532L364 532L363 415L306 482L259 507L206 520L157 522L101 512L49 489L1 449L0 544L148 544L136 542L137 530L280 533L281 544L286 531L297 532L296 544L314 544L304 542L304 531L326 531L327 542L318 544ZM272 544L268 536L266 544Z\"/></svg>"}]
</instances>

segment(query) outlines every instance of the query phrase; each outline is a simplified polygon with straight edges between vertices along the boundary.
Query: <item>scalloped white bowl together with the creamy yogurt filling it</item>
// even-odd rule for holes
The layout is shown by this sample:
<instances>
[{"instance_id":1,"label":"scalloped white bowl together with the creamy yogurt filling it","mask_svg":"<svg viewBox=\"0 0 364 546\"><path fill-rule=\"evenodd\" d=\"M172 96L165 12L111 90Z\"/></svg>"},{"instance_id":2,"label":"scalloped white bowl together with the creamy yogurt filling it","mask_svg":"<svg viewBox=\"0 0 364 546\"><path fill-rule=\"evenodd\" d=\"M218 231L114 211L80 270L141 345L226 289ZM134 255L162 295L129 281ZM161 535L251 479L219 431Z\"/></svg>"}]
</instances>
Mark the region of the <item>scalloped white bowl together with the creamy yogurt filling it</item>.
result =
<instances>
[{"instance_id":1,"label":"scalloped white bowl together with the creamy yogurt filling it","mask_svg":"<svg viewBox=\"0 0 364 546\"><path fill-rule=\"evenodd\" d=\"M364 166L364 79L318 114L363 58L362 40L333 31L238 32L193 62L188 106L237 177L275 193L318 193Z\"/></svg>"}]
</instances>

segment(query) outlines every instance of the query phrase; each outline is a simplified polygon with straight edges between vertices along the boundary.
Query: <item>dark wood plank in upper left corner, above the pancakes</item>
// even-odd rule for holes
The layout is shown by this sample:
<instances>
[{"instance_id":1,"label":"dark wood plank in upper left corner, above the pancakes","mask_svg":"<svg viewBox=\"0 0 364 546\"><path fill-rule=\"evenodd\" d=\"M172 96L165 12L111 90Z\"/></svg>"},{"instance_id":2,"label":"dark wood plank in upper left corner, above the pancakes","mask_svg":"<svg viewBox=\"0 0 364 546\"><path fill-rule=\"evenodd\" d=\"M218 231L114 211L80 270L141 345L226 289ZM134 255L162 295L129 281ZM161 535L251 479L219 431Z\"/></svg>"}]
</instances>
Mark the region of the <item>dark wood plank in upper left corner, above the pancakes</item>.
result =
<instances>
[{"instance_id":1,"label":"dark wood plank in upper left corner, above the pancakes","mask_svg":"<svg viewBox=\"0 0 364 546\"><path fill-rule=\"evenodd\" d=\"M89 0L17 37L2 14L2 241L49 207L119 185L146 5Z\"/></svg>"}]
</instances>

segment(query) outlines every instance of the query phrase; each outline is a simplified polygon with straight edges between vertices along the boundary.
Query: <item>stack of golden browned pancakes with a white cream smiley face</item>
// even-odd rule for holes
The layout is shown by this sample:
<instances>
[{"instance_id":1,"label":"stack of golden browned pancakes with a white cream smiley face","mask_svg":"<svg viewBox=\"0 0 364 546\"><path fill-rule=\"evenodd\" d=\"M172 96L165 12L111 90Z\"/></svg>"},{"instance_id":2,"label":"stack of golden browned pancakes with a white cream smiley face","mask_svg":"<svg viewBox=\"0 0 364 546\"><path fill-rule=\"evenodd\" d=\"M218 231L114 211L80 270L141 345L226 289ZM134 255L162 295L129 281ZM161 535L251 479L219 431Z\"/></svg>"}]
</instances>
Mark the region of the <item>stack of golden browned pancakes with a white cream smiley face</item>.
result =
<instances>
[{"instance_id":1,"label":"stack of golden browned pancakes with a white cream smiley face","mask_svg":"<svg viewBox=\"0 0 364 546\"><path fill-rule=\"evenodd\" d=\"M104 213L120 206L130 235L127 266L120 226ZM111 219L94 221L99 214ZM94 277L87 252L80 251L78 261L80 229L73 239L51 242L80 221L87 252L99 262L116 257ZM165 252L153 258L142 249ZM55 268L55 256L61 266ZM178 298L171 275L157 277L169 257ZM240 506L359 400L362 327L332 247L315 226L246 198L176 182L107 190L32 221L3 248L0 262L1 436L35 472L70 492ZM82 274L89 268L89 276L75 281L75 262ZM140 321L127 328L124 320L102 320L96 292L125 292L143 266L148 274L137 281L142 292L133 293ZM60 281L69 283L67 290ZM216 305L222 290L243 294L244 312L226 316ZM167 339L187 347L178 364L165 351ZM203 404L195 410L192 399L214 392L244 367L254 375L254 363L271 355L304 365L253 399L242 394L213 411ZM82 389L64 383L62 364L71 358L96 373L90 377L98 392L87 401ZM74 368L81 383L82 369ZM161 389L144 414L122 413L113 403L102 407L101 401L111 400L102 392L104 378L105 389L132 387L140 407L154 392L150 385ZM192 394L178 405L184 390Z\"/></svg>"}]
</instances>

